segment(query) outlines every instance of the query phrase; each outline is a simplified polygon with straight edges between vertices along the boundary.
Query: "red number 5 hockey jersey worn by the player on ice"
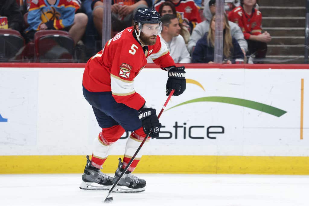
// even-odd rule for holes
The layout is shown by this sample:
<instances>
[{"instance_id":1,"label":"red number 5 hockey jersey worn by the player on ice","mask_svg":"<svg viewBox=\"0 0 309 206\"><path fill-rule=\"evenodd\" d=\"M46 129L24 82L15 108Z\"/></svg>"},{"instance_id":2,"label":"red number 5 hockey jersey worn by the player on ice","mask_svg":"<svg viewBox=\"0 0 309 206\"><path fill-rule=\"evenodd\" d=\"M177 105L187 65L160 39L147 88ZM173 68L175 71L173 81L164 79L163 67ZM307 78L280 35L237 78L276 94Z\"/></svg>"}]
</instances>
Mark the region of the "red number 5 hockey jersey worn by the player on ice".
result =
<instances>
[{"instance_id":1,"label":"red number 5 hockey jersey worn by the player on ice","mask_svg":"<svg viewBox=\"0 0 309 206\"><path fill-rule=\"evenodd\" d=\"M152 58L161 68L174 66L175 62L159 36L155 45L142 47L133 32L133 27L119 32L88 60L83 86L91 92L112 91L116 102L139 110L145 99L135 92L134 78L146 66L146 58Z\"/></svg>"}]
</instances>

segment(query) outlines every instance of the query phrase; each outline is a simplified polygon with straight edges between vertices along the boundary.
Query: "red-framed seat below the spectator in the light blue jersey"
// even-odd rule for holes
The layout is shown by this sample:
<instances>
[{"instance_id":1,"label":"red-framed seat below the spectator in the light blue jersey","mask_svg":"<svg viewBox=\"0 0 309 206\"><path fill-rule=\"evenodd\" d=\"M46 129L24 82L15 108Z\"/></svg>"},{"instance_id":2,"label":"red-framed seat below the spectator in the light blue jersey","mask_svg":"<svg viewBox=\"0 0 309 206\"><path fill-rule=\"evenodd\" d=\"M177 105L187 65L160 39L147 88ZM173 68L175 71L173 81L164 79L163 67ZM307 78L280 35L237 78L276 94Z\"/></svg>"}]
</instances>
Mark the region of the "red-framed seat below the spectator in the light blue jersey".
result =
<instances>
[{"instance_id":1,"label":"red-framed seat below the spectator in the light blue jersey","mask_svg":"<svg viewBox=\"0 0 309 206\"><path fill-rule=\"evenodd\" d=\"M74 40L68 32L40 30L34 35L37 62L72 62Z\"/></svg>"}]
</instances>

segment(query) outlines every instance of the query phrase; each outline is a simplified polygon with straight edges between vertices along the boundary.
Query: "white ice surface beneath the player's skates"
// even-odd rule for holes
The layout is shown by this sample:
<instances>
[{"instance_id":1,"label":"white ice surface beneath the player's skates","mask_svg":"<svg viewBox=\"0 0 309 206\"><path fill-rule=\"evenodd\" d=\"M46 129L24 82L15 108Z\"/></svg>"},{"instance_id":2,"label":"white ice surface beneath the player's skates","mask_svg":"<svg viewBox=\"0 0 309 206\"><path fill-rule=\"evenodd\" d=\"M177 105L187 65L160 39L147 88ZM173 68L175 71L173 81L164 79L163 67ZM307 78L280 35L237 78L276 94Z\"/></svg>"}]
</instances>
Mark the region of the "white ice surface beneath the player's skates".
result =
<instances>
[{"instance_id":1,"label":"white ice surface beneath the player's skates","mask_svg":"<svg viewBox=\"0 0 309 206\"><path fill-rule=\"evenodd\" d=\"M112 193L79 189L82 174L2 174L0 205L307 206L309 176L135 174L146 191ZM112 174L110 174L112 175Z\"/></svg>"}]
</instances>

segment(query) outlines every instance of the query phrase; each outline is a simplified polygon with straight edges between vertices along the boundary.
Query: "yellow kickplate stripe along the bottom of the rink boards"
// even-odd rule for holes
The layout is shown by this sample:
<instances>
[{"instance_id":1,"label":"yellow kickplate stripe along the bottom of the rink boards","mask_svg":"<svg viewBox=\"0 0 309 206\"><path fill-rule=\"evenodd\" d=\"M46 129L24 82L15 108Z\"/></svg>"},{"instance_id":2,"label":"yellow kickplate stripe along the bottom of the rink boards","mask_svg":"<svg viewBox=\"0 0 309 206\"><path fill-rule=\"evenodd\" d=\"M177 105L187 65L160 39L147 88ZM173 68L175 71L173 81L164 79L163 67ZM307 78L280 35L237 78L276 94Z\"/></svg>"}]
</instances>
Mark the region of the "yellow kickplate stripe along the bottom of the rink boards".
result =
<instances>
[{"instance_id":1,"label":"yellow kickplate stripe along the bottom of the rink boards","mask_svg":"<svg viewBox=\"0 0 309 206\"><path fill-rule=\"evenodd\" d=\"M104 172L114 173L110 155ZM83 173L86 155L0 156L0 174ZM309 174L309 157L144 155L136 173Z\"/></svg>"}]
</instances>

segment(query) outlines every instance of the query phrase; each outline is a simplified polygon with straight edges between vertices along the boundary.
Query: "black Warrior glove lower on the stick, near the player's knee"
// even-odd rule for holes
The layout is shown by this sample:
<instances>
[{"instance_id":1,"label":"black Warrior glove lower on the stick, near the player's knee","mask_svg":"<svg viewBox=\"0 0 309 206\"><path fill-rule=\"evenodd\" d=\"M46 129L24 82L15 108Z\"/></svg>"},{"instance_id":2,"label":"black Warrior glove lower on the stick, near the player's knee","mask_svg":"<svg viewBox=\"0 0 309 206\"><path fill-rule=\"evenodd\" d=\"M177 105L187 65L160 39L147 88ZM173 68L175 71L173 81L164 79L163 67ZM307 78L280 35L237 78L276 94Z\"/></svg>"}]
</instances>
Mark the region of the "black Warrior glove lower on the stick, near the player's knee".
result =
<instances>
[{"instance_id":1,"label":"black Warrior glove lower on the stick, near the player's knee","mask_svg":"<svg viewBox=\"0 0 309 206\"><path fill-rule=\"evenodd\" d=\"M138 118L142 121L142 127L145 134L148 134L151 129L150 137L159 137L159 132L162 124L160 124L155 109L142 108L138 110Z\"/></svg>"}]
</instances>

